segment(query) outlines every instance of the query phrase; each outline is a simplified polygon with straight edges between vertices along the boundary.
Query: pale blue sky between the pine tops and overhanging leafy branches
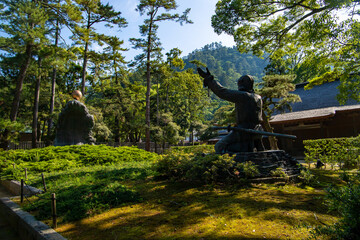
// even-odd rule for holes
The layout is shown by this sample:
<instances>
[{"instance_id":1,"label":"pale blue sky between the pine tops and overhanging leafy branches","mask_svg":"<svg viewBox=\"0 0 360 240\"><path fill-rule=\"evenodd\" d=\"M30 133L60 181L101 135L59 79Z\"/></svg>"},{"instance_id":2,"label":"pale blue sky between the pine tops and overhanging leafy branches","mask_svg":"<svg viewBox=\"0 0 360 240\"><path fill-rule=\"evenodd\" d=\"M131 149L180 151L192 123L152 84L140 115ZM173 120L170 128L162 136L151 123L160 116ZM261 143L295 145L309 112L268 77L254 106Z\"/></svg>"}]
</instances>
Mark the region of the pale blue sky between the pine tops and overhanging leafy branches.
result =
<instances>
[{"instance_id":1,"label":"pale blue sky between the pine tops and overhanging leafy branches","mask_svg":"<svg viewBox=\"0 0 360 240\"><path fill-rule=\"evenodd\" d=\"M159 23L158 36L163 53L169 52L172 48L179 48L182 57L188 55L195 49L200 49L206 44L213 42L221 42L223 46L232 47L235 45L233 37L229 35L217 35L211 27L211 16L215 12L215 5L218 0L177 0L178 8L169 13L182 14L185 9L191 8L189 19L193 24L183 24L175 21L163 21ZM139 54L139 50L132 49L129 38L140 38L139 26L144 22L144 16L140 16L135 11L139 0L102 0L103 3L109 2L116 11L120 11L122 17L128 22L128 27L117 31L115 29L99 29L105 31L106 34L116 35L124 40L124 47L129 51L124 55L127 61L133 60L134 56ZM96 28L97 26L95 26Z\"/></svg>"}]
</instances>

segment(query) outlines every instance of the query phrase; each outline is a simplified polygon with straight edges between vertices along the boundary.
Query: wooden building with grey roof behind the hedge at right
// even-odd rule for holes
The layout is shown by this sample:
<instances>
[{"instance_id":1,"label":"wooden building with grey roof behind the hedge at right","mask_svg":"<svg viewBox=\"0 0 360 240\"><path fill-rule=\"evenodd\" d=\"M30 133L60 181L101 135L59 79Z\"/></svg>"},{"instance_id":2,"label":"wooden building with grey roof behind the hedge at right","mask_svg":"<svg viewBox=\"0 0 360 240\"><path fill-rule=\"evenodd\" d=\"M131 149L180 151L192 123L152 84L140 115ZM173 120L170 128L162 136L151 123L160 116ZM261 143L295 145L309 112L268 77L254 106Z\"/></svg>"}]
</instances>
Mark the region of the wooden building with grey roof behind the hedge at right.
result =
<instances>
[{"instance_id":1,"label":"wooden building with grey roof behind the hedge at right","mask_svg":"<svg viewBox=\"0 0 360 240\"><path fill-rule=\"evenodd\" d=\"M274 132L297 136L297 140L279 139L279 148L303 155L303 140L353 137L360 133L360 103L349 100L340 105L336 99L339 81L304 90L298 84L293 92L302 102L292 105L292 112L274 115L270 123Z\"/></svg>"}]
</instances>

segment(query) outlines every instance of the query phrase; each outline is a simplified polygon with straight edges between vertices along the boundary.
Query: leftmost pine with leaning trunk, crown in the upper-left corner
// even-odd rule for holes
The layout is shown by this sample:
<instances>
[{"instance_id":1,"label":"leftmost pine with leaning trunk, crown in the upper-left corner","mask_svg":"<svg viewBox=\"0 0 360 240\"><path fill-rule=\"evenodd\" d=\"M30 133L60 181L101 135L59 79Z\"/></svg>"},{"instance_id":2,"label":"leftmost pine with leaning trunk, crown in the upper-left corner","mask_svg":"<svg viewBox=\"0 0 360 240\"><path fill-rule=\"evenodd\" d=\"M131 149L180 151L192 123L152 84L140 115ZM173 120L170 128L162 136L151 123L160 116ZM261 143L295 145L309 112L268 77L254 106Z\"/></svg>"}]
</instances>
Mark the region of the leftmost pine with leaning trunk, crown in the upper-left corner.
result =
<instances>
[{"instance_id":1,"label":"leftmost pine with leaning trunk, crown in the upper-left corner","mask_svg":"<svg viewBox=\"0 0 360 240\"><path fill-rule=\"evenodd\" d=\"M0 37L0 49L6 51L9 56L23 56L9 116L10 121L14 122L17 118L23 82L32 61L32 54L45 38L45 25L49 16L42 7L41 1L3 0L1 3L4 4L4 8L0 12L0 30L8 36ZM8 134L8 130L5 130L1 144L4 149L8 146Z\"/></svg>"}]
</instances>

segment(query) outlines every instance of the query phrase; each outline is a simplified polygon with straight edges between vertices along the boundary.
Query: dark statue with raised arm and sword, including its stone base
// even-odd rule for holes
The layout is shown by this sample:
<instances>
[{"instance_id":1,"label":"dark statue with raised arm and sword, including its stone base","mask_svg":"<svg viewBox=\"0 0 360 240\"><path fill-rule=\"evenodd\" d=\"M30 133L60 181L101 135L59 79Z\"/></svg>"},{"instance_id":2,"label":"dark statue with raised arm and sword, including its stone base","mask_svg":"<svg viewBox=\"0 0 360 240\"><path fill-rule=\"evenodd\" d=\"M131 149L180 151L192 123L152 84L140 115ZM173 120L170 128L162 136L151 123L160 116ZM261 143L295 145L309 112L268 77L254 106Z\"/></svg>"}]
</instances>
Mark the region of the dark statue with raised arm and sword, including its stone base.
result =
<instances>
[{"instance_id":1,"label":"dark statue with raised arm and sword, including its stone base","mask_svg":"<svg viewBox=\"0 0 360 240\"><path fill-rule=\"evenodd\" d=\"M277 134L263 131L262 122L262 99L253 88L254 79L245 75L237 81L238 90L227 89L211 75L209 69L206 72L197 69L204 79L204 86L208 87L219 98L235 103L236 126L215 127L215 129L228 129L229 134L215 144L217 154L236 154L234 160L238 163L251 161L259 170L258 178L272 177L279 169L288 177L297 176L300 173L299 163L295 158L282 150L266 151L262 143L262 136L278 136L296 138L292 135Z\"/></svg>"}]
</instances>

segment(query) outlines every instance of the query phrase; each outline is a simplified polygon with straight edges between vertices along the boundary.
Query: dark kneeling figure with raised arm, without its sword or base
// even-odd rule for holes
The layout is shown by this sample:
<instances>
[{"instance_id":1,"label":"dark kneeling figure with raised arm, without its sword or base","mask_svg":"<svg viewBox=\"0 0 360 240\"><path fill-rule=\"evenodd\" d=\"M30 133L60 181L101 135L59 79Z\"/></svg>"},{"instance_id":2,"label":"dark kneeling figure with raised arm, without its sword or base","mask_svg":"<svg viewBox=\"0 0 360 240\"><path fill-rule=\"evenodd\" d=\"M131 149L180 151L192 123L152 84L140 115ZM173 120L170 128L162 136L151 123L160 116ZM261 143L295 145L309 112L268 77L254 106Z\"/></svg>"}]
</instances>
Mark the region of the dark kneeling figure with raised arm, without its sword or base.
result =
<instances>
[{"instance_id":1,"label":"dark kneeling figure with raised arm, without its sword or base","mask_svg":"<svg viewBox=\"0 0 360 240\"><path fill-rule=\"evenodd\" d=\"M204 86L209 87L221 99L235 103L236 127L262 130L262 99L255 94L252 76L245 75L238 80L238 90L224 88L214 80L208 69L204 72L198 68L198 73L204 78ZM227 136L215 144L218 154L264 151L262 136L232 130Z\"/></svg>"}]
</instances>

